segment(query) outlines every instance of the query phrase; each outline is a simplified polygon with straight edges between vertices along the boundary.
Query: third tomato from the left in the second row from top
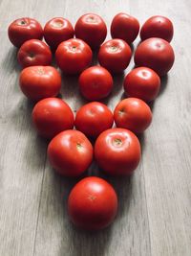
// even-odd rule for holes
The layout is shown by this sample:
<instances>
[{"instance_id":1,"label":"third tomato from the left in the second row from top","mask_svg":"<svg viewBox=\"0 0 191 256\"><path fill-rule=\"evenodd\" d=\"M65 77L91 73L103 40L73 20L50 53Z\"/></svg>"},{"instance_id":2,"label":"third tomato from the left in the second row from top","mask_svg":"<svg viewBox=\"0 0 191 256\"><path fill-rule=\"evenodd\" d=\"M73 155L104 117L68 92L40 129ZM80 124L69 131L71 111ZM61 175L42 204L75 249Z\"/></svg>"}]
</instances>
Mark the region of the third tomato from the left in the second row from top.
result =
<instances>
[{"instance_id":1,"label":"third tomato from the left in the second row from top","mask_svg":"<svg viewBox=\"0 0 191 256\"><path fill-rule=\"evenodd\" d=\"M98 61L109 71L119 73L129 65L131 54L131 48L125 41L112 39L101 45Z\"/></svg>"}]
</instances>

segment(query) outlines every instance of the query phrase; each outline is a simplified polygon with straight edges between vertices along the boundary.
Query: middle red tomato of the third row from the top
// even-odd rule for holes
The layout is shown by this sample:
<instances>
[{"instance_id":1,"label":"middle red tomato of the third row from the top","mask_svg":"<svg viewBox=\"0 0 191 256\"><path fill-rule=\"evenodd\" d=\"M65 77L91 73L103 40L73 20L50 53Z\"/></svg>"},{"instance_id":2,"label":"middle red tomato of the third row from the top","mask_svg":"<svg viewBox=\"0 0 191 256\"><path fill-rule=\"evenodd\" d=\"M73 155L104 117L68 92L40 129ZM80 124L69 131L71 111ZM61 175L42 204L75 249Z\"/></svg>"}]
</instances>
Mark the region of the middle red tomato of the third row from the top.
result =
<instances>
[{"instance_id":1,"label":"middle red tomato of the third row from the top","mask_svg":"<svg viewBox=\"0 0 191 256\"><path fill-rule=\"evenodd\" d=\"M107 97L113 88L113 78L107 69L100 66L89 67L79 77L81 94L89 101L99 101Z\"/></svg>"}]
</instances>

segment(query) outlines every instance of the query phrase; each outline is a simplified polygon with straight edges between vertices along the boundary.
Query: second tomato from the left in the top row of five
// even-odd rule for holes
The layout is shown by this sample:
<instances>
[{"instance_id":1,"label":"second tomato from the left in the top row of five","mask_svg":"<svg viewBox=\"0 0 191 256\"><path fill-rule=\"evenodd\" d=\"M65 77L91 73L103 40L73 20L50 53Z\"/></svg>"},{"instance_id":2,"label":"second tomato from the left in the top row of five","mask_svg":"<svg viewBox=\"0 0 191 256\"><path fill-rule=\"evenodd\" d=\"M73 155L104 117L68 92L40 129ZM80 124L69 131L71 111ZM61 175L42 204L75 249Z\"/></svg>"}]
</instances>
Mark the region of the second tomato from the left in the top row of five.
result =
<instances>
[{"instance_id":1,"label":"second tomato from the left in the top row of five","mask_svg":"<svg viewBox=\"0 0 191 256\"><path fill-rule=\"evenodd\" d=\"M66 18L55 17L46 23L44 37L50 47L55 50L62 41L74 37L73 25Z\"/></svg>"}]
</instances>

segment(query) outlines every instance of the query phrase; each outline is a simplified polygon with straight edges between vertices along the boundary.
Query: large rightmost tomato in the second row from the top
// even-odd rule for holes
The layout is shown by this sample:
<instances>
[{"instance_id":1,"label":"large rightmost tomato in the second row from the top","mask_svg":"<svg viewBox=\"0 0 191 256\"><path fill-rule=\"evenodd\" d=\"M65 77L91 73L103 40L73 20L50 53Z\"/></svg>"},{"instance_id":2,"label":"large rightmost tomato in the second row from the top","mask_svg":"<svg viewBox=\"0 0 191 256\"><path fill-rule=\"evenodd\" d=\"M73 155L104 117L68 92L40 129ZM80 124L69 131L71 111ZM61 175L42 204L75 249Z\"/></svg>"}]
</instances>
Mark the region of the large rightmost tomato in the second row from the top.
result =
<instances>
[{"instance_id":1,"label":"large rightmost tomato in the second row from the top","mask_svg":"<svg viewBox=\"0 0 191 256\"><path fill-rule=\"evenodd\" d=\"M137 66L150 67L159 76L164 76L172 68L175 55L166 40L153 37L138 45L134 59Z\"/></svg>"}]
</instances>

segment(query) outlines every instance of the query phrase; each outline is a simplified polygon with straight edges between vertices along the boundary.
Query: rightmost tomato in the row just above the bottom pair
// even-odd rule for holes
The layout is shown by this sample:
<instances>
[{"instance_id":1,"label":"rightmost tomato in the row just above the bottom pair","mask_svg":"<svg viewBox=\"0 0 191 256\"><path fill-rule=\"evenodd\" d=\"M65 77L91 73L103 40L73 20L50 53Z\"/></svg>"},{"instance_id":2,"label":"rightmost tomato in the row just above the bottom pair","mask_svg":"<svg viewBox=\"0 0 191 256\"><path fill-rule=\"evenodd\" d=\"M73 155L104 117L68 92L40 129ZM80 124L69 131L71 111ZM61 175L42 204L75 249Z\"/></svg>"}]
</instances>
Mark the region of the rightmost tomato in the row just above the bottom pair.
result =
<instances>
[{"instance_id":1,"label":"rightmost tomato in the row just above the bottom pair","mask_svg":"<svg viewBox=\"0 0 191 256\"><path fill-rule=\"evenodd\" d=\"M135 133L140 133L150 126L152 112L142 100L128 98L117 104L114 120L117 128L128 128Z\"/></svg>"}]
</instances>

